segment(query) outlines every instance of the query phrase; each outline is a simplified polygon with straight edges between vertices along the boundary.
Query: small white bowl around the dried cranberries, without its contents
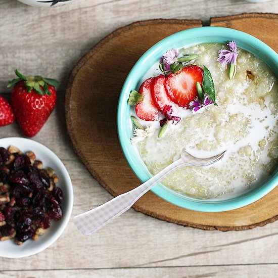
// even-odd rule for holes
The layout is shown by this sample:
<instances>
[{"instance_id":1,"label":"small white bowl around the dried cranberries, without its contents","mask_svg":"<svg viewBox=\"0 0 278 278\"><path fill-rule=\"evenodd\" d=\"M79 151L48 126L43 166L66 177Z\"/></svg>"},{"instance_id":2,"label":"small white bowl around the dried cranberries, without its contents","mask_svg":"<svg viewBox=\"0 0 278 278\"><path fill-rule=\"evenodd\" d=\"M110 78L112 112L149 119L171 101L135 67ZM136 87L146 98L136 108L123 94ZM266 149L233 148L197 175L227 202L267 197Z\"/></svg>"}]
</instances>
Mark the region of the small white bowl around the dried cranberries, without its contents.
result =
<instances>
[{"instance_id":1,"label":"small white bowl around the dried cranberries, without its contents","mask_svg":"<svg viewBox=\"0 0 278 278\"><path fill-rule=\"evenodd\" d=\"M0 257L22 258L34 255L48 248L62 235L72 212L73 187L66 167L58 156L47 147L26 138L7 137L0 139L0 147L8 148L10 145L16 146L22 152L33 151L37 159L43 162L43 167L52 167L59 176L59 183L57 185L64 194L64 201L62 203L64 215L62 219L52 221L50 228L43 236L38 237L38 240L28 240L22 245L16 245L12 240L0 242Z\"/></svg>"}]
</instances>

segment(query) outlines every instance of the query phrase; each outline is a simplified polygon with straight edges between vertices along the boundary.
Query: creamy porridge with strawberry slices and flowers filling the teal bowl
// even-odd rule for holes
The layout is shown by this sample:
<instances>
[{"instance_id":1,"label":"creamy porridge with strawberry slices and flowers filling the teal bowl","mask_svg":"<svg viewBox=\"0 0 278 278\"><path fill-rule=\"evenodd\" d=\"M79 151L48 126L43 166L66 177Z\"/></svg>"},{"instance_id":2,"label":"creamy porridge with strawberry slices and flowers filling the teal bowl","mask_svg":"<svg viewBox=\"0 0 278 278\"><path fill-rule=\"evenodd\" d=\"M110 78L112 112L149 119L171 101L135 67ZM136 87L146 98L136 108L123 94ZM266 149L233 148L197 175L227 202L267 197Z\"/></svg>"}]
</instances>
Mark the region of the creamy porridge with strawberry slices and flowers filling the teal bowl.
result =
<instances>
[{"instance_id":1,"label":"creamy porridge with strawberry slices and flowers filling the teal bowl","mask_svg":"<svg viewBox=\"0 0 278 278\"><path fill-rule=\"evenodd\" d=\"M211 166L174 171L163 179L164 186L198 199L231 198L275 170L277 80L235 42L170 50L141 83L129 98L136 104L131 142L151 174L178 159L183 148L196 157L226 150Z\"/></svg>"}]
</instances>

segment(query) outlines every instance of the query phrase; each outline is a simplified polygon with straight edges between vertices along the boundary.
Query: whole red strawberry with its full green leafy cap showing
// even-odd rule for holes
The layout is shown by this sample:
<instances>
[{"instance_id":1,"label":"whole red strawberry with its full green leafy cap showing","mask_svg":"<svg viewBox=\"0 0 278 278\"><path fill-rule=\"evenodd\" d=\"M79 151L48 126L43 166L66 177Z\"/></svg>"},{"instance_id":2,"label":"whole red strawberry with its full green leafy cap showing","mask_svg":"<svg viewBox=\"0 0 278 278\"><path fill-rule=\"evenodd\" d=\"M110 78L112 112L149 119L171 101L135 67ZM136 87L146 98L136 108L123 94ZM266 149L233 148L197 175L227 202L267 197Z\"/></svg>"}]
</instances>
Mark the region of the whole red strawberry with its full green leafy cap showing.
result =
<instances>
[{"instance_id":1,"label":"whole red strawberry with its full green leafy cap showing","mask_svg":"<svg viewBox=\"0 0 278 278\"><path fill-rule=\"evenodd\" d=\"M56 105L55 86L59 82L41 76L26 77L18 70L15 73L18 78L8 85L14 86L12 107L20 127L28 137L32 137L41 129Z\"/></svg>"}]
</instances>

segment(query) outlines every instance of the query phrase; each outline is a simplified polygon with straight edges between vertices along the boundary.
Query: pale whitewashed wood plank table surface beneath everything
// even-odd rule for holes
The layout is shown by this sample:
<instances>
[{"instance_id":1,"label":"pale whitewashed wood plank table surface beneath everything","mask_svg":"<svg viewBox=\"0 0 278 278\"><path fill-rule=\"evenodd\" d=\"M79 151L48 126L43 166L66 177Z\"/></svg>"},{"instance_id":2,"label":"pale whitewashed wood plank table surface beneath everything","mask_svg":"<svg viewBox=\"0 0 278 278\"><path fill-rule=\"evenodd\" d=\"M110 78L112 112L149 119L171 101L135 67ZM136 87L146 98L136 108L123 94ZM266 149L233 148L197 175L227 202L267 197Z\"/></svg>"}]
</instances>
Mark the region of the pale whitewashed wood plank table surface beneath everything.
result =
<instances>
[{"instance_id":1,"label":"pale whitewashed wood plank table surface beneath everything","mask_svg":"<svg viewBox=\"0 0 278 278\"><path fill-rule=\"evenodd\" d=\"M64 88L74 64L118 27L153 18L201 19L244 12L278 13L278 1L76 0L53 9L0 0L0 91L9 96L13 69L61 80L54 113L34 140L51 148L73 184L73 215L111 196L74 153L64 117ZM132 41L130 41L132 43ZM124 61L123 61L124 63ZM115 104L116 105L116 104ZM0 137L24 136L16 123ZM94 155L94 154L92 154ZM278 221L246 231L204 231L129 210L91 237L72 219L47 250L23 259L0 258L0 277L276 277Z\"/></svg>"}]
</instances>

